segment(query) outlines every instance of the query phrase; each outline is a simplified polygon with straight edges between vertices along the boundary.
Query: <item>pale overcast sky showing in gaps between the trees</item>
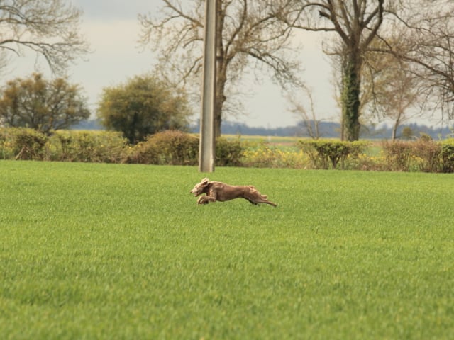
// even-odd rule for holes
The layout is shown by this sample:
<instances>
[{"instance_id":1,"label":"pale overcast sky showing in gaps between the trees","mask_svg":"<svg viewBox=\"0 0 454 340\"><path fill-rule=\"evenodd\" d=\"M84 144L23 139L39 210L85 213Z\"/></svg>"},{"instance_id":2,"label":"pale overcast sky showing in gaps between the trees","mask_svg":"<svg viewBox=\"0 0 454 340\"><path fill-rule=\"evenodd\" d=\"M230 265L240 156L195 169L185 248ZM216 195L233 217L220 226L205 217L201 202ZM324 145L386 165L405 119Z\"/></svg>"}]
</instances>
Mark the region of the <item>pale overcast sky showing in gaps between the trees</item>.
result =
<instances>
[{"instance_id":1,"label":"pale overcast sky showing in gaps between the trees","mask_svg":"<svg viewBox=\"0 0 454 340\"><path fill-rule=\"evenodd\" d=\"M140 52L138 36L140 26L138 13L154 13L162 6L161 0L73 0L82 8L82 33L94 52L79 60L68 72L70 82L77 83L89 98L92 113L96 111L101 91L106 86L116 86L135 75L150 72L154 57L150 50ZM338 120L339 109L333 100L331 67L321 52L321 41L314 33L304 35L301 50L304 73L301 75L313 90L316 111L323 118ZM28 58L15 58L13 68L6 77L26 77L34 71L35 63ZM41 72L44 64L38 63ZM238 121L250 126L267 128L294 125L299 120L288 110L278 86L271 81L243 84L245 114L225 117L224 120ZM198 118L199 112L196 112Z\"/></svg>"}]
</instances>

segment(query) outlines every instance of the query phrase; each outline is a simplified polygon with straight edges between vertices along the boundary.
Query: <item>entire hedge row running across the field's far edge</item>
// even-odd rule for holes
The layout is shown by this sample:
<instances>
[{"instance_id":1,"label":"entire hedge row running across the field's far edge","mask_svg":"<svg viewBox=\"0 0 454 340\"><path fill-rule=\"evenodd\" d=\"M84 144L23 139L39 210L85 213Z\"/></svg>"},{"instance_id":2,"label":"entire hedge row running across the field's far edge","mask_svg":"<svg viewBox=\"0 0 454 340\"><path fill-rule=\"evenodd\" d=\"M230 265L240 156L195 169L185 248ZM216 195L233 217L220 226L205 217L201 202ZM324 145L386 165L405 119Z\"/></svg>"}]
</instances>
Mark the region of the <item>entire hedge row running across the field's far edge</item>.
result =
<instances>
[{"instance_id":1,"label":"entire hedge row running across the field's far edge","mask_svg":"<svg viewBox=\"0 0 454 340\"><path fill-rule=\"evenodd\" d=\"M364 141L300 140L291 149L219 138L216 166L454 172L454 139L382 142L375 148L380 153L370 152L370 142ZM164 131L129 145L119 132L59 130L48 136L31 129L0 128L0 159L195 165L199 138Z\"/></svg>"}]
</instances>

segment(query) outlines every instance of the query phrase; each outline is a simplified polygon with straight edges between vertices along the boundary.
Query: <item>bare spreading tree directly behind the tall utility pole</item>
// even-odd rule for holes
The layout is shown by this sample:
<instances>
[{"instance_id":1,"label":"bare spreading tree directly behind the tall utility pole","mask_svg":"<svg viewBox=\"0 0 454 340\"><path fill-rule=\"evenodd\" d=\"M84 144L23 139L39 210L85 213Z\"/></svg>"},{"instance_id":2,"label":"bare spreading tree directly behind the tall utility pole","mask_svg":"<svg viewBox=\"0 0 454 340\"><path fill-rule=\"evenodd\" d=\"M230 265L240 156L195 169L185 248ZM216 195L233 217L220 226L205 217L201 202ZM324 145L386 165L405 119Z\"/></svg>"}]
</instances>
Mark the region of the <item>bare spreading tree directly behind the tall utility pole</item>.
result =
<instances>
[{"instance_id":1,"label":"bare spreading tree directly behind the tall utility pole","mask_svg":"<svg viewBox=\"0 0 454 340\"><path fill-rule=\"evenodd\" d=\"M219 136L224 104L228 96L238 92L236 87L248 67L255 72L267 69L282 86L298 82L299 67L289 54L290 30L272 15L270 4L253 0L216 1L215 132ZM199 81L201 71L204 0L187 1L185 5L177 0L162 2L160 16L139 16L143 27L140 42L150 44L160 53L160 63L167 72L194 86L194 77Z\"/></svg>"}]
</instances>

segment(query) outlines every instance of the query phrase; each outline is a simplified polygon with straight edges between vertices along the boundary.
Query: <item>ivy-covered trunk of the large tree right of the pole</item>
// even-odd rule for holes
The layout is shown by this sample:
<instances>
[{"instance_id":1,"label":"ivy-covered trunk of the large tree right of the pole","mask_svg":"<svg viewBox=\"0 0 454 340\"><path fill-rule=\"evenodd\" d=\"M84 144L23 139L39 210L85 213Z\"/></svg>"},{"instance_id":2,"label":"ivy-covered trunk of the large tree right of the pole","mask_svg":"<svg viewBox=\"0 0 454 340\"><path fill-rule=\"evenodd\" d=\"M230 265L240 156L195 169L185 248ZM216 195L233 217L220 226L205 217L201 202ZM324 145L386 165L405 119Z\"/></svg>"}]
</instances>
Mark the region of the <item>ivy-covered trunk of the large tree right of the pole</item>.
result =
<instances>
[{"instance_id":1,"label":"ivy-covered trunk of the large tree right of the pole","mask_svg":"<svg viewBox=\"0 0 454 340\"><path fill-rule=\"evenodd\" d=\"M348 57L343 67L342 78L342 120L343 139L360 139L360 61Z\"/></svg>"}]
</instances>

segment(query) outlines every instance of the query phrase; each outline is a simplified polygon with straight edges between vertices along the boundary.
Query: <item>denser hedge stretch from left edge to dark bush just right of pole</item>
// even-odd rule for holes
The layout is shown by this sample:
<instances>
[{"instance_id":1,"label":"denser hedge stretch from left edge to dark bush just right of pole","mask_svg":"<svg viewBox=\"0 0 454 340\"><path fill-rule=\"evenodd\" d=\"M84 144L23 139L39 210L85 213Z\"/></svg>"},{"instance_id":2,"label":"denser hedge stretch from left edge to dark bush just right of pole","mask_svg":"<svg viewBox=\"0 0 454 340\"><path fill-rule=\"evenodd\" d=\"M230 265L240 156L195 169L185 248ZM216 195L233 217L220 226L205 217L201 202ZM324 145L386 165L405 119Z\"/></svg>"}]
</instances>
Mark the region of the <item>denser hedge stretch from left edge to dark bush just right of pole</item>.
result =
<instances>
[{"instance_id":1,"label":"denser hedge stretch from left edge to dark bush just right of pole","mask_svg":"<svg viewBox=\"0 0 454 340\"><path fill-rule=\"evenodd\" d=\"M241 166L242 153L239 140L220 138L216 165ZM194 165L199 161L199 138L164 131L129 145L121 132L57 130L48 136L27 128L0 128L0 159Z\"/></svg>"}]
</instances>

